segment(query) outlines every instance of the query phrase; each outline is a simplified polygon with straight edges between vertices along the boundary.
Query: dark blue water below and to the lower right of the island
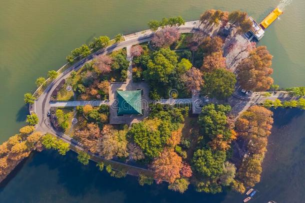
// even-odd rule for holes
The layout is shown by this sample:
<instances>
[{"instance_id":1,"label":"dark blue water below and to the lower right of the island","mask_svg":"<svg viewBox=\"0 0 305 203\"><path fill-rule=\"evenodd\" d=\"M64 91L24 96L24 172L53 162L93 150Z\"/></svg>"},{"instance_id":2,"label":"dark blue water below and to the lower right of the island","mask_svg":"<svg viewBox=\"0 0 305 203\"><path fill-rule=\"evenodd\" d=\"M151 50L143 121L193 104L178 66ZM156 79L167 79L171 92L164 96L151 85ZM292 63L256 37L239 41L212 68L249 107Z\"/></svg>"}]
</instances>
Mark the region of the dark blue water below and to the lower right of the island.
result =
<instances>
[{"instance_id":1,"label":"dark blue water below and to the lower right of the island","mask_svg":"<svg viewBox=\"0 0 305 203\"><path fill-rule=\"evenodd\" d=\"M305 198L305 113L297 109L274 112L268 152L263 162L260 192L250 202L303 202ZM32 154L0 187L0 202L241 202L234 192L205 194L190 187L184 194L165 183L140 186L135 177L117 179L100 172L90 161L77 162L45 150Z\"/></svg>"}]
</instances>

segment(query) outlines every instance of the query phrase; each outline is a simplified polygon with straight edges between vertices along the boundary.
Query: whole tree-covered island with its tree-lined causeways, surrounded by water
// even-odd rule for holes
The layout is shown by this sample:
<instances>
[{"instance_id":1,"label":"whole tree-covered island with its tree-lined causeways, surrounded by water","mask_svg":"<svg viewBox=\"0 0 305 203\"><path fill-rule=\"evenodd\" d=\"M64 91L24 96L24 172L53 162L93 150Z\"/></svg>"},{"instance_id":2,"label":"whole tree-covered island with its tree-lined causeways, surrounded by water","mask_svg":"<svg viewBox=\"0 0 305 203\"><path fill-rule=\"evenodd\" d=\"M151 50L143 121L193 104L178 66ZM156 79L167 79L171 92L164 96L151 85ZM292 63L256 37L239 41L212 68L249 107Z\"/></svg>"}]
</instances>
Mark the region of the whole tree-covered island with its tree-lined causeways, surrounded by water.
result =
<instances>
[{"instance_id":1,"label":"whole tree-covered island with its tree-lined causeways, surrounded by water","mask_svg":"<svg viewBox=\"0 0 305 203\"><path fill-rule=\"evenodd\" d=\"M264 24L265 25L265 24ZM0 145L0 181L31 151L73 150L114 177L184 192L244 193L260 180L268 108L305 109L305 87L273 84L264 29L246 13L148 22L94 38L24 95L28 126Z\"/></svg>"}]
</instances>

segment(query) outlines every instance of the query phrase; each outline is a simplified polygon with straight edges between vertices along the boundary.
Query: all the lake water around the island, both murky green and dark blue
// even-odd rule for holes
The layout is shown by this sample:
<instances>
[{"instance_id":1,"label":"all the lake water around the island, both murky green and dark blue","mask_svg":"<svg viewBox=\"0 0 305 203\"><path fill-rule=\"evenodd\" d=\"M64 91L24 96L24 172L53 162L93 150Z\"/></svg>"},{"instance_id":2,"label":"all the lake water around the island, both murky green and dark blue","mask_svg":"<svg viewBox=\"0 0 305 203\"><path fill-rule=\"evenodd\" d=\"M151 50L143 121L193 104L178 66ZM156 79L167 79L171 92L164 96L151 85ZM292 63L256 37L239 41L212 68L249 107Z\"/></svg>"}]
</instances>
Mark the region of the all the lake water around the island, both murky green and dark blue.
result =
<instances>
[{"instance_id":1,"label":"all the lake water around the island, both murky green and dark blue","mask_svg":"<svg viewBox=\"0 0 305 203\"><path fill-rule=\"evenodd\" d=\"M162 17L180 15L185 20L194 20L204 10L211 8L227 11L240 9L260 22L279 2L0 0L0 143L24 125L27 109L23 105L23 94L34 91L35 79L46 76L48 70L57 70L65 63L65 56L70 50L88 43L93 37L113 37L117 33L144 30L149 20ZM266 30L259 44L266 45L274 56L275 83L282 87L303 86L305 1L282 2L290 4L285 7L280 20ZM304 144L302 127L305 118L303 113L294 110L282 110L280 113L295 114L296 118L286 124L284 122L288 118L278 116L276 119L278 126L274 125L270 136L266 170L258 184L263 191L259 195L261 198L274 196L273 200L280 197L278 202L292 202L283 199L289 195L301 197L305 188L304 181L298 177L304 174L304 148L299 144ZM281 139L276 139L276 136L281 136ZM93 164L81 166L75 161L72 152L65 157L47 151L31 156L19 168L16 176L0 189L0 202L3 199L6 199L3 202L89 201L90 198L96 201L119 198L118 202L171 202L189 198L200 202L221 202L224 199L234 199L231 202L235 202L236 199L242 199L242 196L233 193L213 196L196 193L192 189L179 195L167 191L165 185L139 187L136 186L135 178L117 180L99 173ZM18 201L16 194L23 200ZM258 198L257 202L266 200L269 199Z\"/></svg>"}]
</instances>

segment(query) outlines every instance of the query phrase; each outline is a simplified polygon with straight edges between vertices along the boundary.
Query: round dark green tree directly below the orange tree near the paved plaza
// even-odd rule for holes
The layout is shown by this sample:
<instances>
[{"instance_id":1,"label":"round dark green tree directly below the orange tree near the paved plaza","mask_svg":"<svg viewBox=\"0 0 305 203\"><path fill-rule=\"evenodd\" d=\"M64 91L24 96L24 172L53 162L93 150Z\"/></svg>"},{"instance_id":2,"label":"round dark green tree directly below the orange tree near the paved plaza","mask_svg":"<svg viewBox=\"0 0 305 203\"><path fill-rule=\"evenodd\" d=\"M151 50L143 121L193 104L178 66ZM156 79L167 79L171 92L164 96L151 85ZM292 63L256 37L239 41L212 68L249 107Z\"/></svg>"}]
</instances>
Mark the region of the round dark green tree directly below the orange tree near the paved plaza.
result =
<instances>
[{"instance_id":1,"label":"round dark green tree directly below the orange tree near the paved plaza","mask_svg":"<svg viewBox=\"0 0 305 203\"><path fill-rule=\"evenodd\" d=\"M203 76L202 93L216 99L225 99L234 92L235 75L225 69L215 69Z\"/></svg>"}]
</instances>

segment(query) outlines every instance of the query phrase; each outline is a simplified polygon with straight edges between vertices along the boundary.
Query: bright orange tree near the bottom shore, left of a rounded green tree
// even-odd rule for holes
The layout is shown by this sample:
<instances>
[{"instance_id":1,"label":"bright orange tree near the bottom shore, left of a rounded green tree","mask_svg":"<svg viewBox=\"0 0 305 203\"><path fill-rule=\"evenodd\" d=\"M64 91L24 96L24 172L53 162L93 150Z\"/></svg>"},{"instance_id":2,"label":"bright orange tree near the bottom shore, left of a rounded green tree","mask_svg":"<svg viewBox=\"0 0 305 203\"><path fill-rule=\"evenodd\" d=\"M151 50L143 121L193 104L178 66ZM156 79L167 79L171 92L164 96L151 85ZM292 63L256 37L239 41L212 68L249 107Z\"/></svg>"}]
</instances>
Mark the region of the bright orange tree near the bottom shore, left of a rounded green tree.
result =
<instances>
[{"instance_id":1,"label":"bright orange tree near the bottom shore, left of a rounded green tree","mask_svg":"<svg viewBox=\"0 0 305 203\"><path fill-rule=\"evenodd\" d=\"M180 169L182 167L182 158L176 154L173 149L165 148L160 157L152 162L152 169L155 170L155 178L157 183L162 180L168 180L173 183L175 179L180 177Z\"/></svg>"}]
</instances>

